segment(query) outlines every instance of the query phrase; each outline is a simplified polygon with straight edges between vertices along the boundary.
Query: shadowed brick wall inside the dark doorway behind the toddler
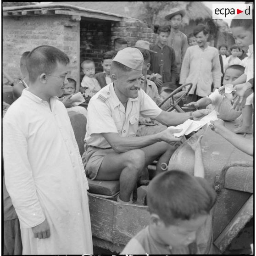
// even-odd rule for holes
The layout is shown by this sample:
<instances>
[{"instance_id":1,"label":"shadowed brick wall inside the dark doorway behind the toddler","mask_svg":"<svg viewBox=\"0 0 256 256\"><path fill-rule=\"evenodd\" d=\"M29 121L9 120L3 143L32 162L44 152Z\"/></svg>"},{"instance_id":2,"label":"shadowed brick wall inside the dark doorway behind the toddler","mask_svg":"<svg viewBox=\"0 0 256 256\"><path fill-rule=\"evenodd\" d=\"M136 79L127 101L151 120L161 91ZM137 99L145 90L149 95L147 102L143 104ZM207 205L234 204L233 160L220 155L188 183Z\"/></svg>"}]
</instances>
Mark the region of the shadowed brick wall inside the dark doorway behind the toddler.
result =
<instances>
[{"instance_id":1,"label":"shadowed brick wall inside the dark doorway behind the toddler","mask_svg":"<svg viewBox=\"0 0 256 256\"><path fill-rule=\"evenodd\" d=\"M111 50L111 22L80 22L80 63L85 59L95 62L95 72L102 72L101 58L103 53ZM80 78L83 71L80 67Z\"/></svg>"}]
</instances>

